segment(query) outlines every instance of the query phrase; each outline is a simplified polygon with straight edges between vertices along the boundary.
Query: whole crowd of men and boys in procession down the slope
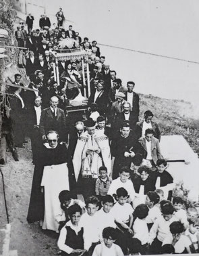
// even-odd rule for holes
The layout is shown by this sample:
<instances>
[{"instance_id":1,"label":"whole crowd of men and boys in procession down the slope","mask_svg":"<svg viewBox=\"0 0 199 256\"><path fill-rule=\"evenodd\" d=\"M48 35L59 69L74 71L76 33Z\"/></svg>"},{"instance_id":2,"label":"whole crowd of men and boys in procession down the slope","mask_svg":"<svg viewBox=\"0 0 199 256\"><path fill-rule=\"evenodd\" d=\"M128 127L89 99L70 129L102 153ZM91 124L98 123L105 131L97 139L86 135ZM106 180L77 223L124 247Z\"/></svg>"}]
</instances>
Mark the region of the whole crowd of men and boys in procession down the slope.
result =
<instances>
[{"instance_id":1,"label":"whole crowd of men and boys in procession down the slope","mask_svg":"<svg viewBox=\"0 0 199 256\"><path fill-rule=\"evenodd\" d=\"M13 156L30 137L35 165L28 223L59 233L61 255L119 256L197 253L199 217L196 207L173 196L173 177L161 154L161 130L151 110L140 116L135 83L123 86L96 41L82 41L60 8L57 26L42 15L26 19L16 39L27 47L26 74L9 93ZM60 42L88 51L88 109L68 112L84 95L82 62L59 62L60 85L54 80L53 55ZM67 49L68 46L65 46ZM87 79L87 78L86 78ZM24 89L24 88L25 89ZM31 89L31 90L28 90ZM86 95L84 95L86 97Z\"/></svg>"}]
</instances>

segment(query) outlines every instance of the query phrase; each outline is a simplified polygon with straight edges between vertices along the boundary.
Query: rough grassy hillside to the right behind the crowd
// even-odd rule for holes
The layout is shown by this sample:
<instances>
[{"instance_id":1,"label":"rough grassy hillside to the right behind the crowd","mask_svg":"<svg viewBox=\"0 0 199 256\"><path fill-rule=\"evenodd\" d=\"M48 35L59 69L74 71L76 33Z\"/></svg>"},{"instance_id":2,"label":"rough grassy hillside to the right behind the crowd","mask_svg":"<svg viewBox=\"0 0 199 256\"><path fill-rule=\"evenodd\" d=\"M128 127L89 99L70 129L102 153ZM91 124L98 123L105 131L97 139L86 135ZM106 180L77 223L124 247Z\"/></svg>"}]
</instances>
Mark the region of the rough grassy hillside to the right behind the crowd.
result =
<instances>
[{"instance_id":1,"label":"rough grassy hillside to the right behind the crowd","mask_svg":"<svg viewBox=\"0 0 199 256\"><path fill-rule=\"evenodd\" d=\"M153 112L163 135L183 135L199 156L199 119L190 102L140 95L140 119L146 110Z\"/></svg>"}]
</instances>

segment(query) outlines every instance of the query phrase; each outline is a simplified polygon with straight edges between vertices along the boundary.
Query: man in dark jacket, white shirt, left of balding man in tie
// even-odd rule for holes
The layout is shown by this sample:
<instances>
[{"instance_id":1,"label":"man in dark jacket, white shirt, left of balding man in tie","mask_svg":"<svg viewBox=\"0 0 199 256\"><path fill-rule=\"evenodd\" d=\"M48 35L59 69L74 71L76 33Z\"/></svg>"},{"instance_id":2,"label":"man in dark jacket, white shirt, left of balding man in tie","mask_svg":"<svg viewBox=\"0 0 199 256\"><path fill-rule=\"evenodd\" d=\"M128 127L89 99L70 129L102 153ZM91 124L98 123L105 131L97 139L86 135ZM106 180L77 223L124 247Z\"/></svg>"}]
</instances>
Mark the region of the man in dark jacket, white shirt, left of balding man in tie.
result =
<instances>
[{"instance_id":1,"label":"man in dark jacket, white shirt, left of balding man in tie","mask_svg":"<svg viewBox=\"0 0 199 256\"><path fill-rule=\"evenodd\" d=\"M28 131L30 133L33 163L36 163L38 152L40 152L39 148L42 145L39 130L41 111L41 98L38 96L34 98L34 104L28 109Z\"/></svg>"}]
</instances>

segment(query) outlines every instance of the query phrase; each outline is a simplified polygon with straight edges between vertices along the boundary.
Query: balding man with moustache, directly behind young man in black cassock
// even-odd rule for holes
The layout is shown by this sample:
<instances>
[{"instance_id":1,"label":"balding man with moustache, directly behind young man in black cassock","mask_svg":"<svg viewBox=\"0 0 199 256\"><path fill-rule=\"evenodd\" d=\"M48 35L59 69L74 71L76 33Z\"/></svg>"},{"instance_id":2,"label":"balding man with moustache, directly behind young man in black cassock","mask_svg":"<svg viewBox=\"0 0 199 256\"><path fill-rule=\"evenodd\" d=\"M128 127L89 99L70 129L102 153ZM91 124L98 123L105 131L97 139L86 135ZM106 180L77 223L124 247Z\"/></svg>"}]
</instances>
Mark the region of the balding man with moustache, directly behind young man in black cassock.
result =
<instances>
[{"instance_id":1,"label":"balding man with moustache, directly behind young man in black cassock","mask_svg":"<svg viewBox=\"0 0 199 256\"><path fill-rule=\"evenodd\" d=\"M134 112L134 110L130 111L130 103L129 102L123 102L122 109L123 111L117 115L116 121L115 121L115 129L119 130L119 127L121 127L121 124L123 121L128 121L130 124L130 129L132 131L135 130L136 123L138 122L138 116Z\"/></svg>"}]
</instances>

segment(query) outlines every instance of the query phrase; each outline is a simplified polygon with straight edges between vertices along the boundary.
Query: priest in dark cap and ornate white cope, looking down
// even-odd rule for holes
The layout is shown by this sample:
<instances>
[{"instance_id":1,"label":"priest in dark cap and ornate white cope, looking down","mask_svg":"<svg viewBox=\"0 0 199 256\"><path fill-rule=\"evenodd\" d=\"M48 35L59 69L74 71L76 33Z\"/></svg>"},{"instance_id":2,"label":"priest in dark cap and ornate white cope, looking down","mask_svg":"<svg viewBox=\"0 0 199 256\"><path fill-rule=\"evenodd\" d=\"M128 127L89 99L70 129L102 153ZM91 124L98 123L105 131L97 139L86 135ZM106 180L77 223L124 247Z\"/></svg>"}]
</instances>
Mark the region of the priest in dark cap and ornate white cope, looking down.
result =
<instances>
[{"instance_id":1,"label":"priest in dark cap and ornate white cope, looking down","mask_svg":"<svg viewBox=\"0 0 199 256\"><path fill-rule=\"evenodd\" d=\"M96 133L95 122L88 119L84 122L84 125L86 131L78 139L73 164L80 190L84 196L89 196L94 193L99 167L105 165L110 175L111 153L108 137Z\"/></svg>"}]
</instances>

